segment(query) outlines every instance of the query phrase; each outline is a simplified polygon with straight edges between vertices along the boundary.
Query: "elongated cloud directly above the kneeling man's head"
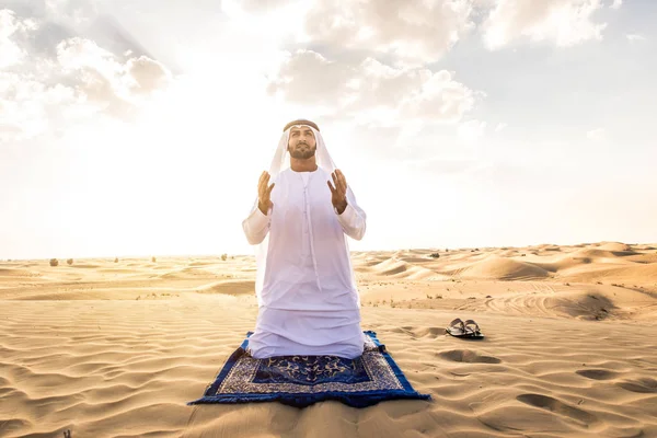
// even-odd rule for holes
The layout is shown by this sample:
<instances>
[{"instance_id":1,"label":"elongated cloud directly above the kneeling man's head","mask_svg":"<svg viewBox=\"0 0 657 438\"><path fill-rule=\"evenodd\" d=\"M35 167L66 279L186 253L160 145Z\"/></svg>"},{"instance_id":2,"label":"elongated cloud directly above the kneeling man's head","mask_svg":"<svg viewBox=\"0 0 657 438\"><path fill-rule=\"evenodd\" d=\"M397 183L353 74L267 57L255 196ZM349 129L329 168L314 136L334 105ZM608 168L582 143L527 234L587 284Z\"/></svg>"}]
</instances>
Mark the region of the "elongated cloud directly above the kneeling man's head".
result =
<instances>
[{"instance_id":1,"label":"elongated cloud directly above the kneeling man's head","mask_svg":"<svg viewBox=\"0 0 657 438\"><path fill-rule=\"evenodd\" d=\"M295 104L322 107L328 116L381 126L457 123L484 96L447 70L395 68L372 58L328 60L312 50L289 54L268 91Z\"/></svg>"}]
</instances>

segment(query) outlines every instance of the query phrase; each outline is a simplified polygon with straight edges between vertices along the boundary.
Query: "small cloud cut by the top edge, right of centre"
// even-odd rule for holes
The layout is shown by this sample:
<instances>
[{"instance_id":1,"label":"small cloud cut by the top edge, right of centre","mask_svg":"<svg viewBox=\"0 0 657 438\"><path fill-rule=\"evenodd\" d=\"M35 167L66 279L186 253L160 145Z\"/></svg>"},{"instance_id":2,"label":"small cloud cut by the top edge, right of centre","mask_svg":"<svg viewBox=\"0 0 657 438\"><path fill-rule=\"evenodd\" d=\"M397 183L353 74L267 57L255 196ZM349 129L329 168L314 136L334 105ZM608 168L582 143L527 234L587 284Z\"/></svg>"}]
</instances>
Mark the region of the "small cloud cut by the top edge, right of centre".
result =
<instances>
[{"instance_id":1,"label":"small cloud cut by the top edge, right of centre","mask_svg":"<svg viewBox=\"0 0 657 438\"><path fill-rule=\"evenodd\" d=\"M561 47L602 39L607 24L592 21L600 8L600 0L497 0L482 24L484 43L498 49L519 38Z\"/></svg>"}]
</instances>

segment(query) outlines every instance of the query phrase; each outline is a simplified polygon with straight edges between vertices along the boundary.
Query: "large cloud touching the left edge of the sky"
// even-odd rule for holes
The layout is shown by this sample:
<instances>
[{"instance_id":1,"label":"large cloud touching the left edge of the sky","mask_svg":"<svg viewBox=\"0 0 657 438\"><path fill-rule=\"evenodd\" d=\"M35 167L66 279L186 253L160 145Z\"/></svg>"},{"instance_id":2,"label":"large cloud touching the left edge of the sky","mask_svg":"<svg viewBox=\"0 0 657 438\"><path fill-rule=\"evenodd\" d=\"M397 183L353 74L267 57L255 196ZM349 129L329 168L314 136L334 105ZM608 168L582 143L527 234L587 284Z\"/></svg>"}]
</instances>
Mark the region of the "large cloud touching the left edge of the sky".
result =
<instances>
[{"instance_id":1,"label":"large cloud touching the left edge of the sky","mask_svg":"<svg viewBox=\"0 0 657 438\"><path fill-rule=\"evenodd\" d=\"M54 50L38 50L32 44L41 24L0 11L2 141L64 131L95 115L130 118L171 82L157 60L115 55L79 36L58 42Z\"/></svg>"}]
</instances>

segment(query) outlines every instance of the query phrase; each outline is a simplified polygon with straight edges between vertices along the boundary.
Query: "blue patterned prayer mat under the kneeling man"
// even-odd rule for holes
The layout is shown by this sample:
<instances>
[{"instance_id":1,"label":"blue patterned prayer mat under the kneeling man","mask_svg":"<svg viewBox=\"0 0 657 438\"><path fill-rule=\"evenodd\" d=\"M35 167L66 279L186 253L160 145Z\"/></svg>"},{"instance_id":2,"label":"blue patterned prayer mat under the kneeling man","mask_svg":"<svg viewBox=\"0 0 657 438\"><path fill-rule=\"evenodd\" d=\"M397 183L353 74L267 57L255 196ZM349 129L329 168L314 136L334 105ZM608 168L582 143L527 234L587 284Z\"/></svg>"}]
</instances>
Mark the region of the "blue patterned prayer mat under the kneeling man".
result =
<instances>
[{"instance_id":1,"label":"blue patterned prayer mat under the kneeling man","mask_svg":"<svg viewBox=\"0 0 657 438\"><path fill-rule=\"evenodd\" d=\"M366 335L362 356L277 356L255 359L247 350L249 337L229 358L217 379L208 384L201 403L280 402L306 407L336 400L354 407L367 407L384 400L430 400L416 392L394 362L385 345L371 331Z\"/></svg>"}]
</instances>

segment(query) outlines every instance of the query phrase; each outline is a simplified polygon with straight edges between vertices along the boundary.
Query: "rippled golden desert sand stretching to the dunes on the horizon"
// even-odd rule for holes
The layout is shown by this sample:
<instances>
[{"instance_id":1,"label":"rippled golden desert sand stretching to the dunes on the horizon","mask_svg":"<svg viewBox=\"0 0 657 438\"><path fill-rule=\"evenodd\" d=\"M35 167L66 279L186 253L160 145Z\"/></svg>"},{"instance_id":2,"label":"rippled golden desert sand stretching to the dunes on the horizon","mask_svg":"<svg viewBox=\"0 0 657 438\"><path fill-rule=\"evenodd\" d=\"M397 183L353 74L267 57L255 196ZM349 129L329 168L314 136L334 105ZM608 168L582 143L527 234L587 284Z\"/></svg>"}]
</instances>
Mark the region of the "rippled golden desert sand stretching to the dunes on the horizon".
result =
<instances>
[{"instance_id":1,"label":"rippled golden desert sand stretching to the dunes on the horizon","mask_svg":"<svg viewBox=\"0 0 657 438\"><path fill-rule=\"evenodd\" d=\"M433 400L187 406L254 327L254 257L2 261L0 436L657 437L657 244L353 262L362 328Z\"/></svg>"}]
</instances>

